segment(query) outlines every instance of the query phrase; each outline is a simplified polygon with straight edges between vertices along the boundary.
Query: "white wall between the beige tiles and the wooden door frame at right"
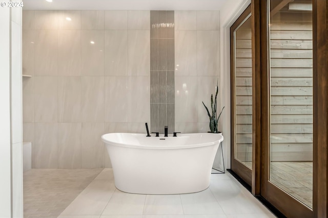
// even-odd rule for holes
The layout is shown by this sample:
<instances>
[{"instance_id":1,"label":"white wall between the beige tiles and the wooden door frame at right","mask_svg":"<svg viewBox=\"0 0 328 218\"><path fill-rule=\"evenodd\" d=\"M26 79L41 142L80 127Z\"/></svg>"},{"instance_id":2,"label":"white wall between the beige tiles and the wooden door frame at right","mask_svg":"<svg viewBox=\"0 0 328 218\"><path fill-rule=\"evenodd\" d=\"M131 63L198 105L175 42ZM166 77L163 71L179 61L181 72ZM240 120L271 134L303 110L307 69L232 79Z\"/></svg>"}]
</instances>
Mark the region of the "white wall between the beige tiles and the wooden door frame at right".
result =
<instances>
[{"instance_id":1,"label":"white wall between the beige tiles and the wooden door frame at right","mask_svg":"<svg viewBox=\"0 0 328 218\"><path fill-rule=\"evenodd\" d=\"M251 0L227 1L220 10L220 105L226 106L224 115L221 117L226 168L231 168L230 27L250 4Z\"/></svg>"}]
</instances>

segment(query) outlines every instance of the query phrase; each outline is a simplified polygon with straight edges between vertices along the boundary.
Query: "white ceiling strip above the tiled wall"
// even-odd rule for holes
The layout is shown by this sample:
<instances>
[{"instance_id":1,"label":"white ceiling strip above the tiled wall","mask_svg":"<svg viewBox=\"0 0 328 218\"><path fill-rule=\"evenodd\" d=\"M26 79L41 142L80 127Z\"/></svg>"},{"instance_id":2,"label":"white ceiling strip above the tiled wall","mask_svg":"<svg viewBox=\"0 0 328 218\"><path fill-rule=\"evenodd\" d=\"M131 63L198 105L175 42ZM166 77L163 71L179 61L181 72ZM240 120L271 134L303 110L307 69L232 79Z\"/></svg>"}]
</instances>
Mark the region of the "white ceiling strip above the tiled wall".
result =
<instances>
[{"instance_id":1,"label":"white ceiling strip above the tiled wall","mask_svg":"<svg viewBox=\"0 0 328 218\"><path fill-rule=\"evenodd\" d=\"M24 10L215 10L229 0L25 0ZM230 0L234 1L234 0Z\"/></svg>"}]
</instances>

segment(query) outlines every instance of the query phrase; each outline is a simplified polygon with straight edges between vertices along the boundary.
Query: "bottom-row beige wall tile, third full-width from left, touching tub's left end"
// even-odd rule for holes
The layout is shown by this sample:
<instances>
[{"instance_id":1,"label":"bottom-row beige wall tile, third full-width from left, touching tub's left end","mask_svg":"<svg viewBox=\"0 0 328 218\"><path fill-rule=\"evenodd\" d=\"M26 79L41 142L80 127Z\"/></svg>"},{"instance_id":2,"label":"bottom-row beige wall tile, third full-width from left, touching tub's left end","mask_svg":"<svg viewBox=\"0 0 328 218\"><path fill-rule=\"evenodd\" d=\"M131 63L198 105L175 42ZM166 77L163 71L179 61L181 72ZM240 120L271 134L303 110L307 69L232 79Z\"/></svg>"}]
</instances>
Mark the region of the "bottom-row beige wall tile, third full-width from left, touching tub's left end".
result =
<instances>
[{"instance_id":1,"label":"bottom-row beige wall tile, third full-width from left, touching tub's left end","mask_svg":"<svg viewBox=\"0 0 328 218\"><path fill-rule=\"evenodd\" d=\"M81 167L104 167L104 123L82 123L81 128Z\"/></svg>"}]
</instances>

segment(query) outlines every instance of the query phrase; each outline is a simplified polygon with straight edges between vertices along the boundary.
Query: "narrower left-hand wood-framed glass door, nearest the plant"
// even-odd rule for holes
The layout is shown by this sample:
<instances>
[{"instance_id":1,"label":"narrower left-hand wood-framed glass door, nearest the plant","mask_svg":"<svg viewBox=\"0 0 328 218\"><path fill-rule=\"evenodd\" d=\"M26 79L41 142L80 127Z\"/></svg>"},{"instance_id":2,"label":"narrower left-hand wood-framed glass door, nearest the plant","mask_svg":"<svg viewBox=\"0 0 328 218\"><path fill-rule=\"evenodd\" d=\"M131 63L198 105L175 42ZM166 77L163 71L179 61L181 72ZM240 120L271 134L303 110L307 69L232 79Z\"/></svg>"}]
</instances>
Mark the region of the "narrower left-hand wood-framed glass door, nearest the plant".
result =
<instances>
[{"instance_id":1,"label":"narrower left-hand wood-framed glass door, nearest the plant","mask_svg":"<svg viewBox=\"0 0 328 218\"><path fill-rule=\"evenodd\" d=\"M231 169L252 185L252 20L249 6L230 29Z\"/></svg>"}]
</instances>

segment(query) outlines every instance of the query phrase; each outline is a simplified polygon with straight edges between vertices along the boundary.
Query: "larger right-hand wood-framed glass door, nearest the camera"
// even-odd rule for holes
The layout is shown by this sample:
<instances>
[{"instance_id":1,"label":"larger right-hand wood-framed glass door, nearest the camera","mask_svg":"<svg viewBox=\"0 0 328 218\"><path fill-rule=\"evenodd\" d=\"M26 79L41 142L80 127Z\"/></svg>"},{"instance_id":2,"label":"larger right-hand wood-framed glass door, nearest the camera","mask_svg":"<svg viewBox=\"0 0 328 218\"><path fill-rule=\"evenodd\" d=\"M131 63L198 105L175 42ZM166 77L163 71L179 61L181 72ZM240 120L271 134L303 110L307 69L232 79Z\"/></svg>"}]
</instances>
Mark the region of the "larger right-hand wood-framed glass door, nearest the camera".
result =
<instances>
[{"instance_id":1,"label":"larger right-hand wood-framed glass door, nearest the camera","mask_svg":"<svg viewBox=\"0 0 328 218\"><path fill-rule=\"evenodd\" d=\"M288 217L313 217L312 2L267 3L261 195Z\"/></svg>"}]
</instances>

